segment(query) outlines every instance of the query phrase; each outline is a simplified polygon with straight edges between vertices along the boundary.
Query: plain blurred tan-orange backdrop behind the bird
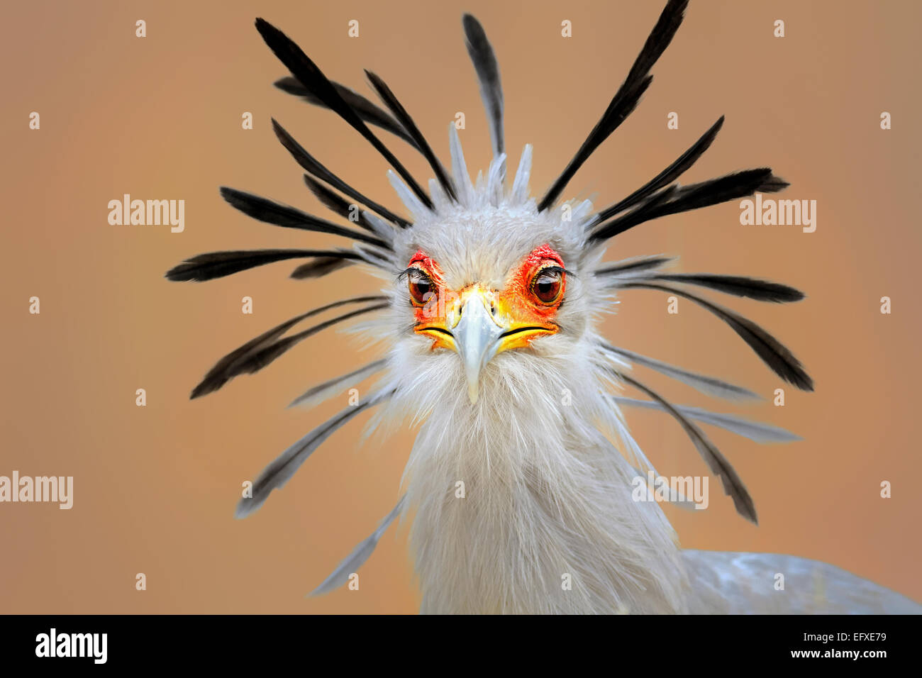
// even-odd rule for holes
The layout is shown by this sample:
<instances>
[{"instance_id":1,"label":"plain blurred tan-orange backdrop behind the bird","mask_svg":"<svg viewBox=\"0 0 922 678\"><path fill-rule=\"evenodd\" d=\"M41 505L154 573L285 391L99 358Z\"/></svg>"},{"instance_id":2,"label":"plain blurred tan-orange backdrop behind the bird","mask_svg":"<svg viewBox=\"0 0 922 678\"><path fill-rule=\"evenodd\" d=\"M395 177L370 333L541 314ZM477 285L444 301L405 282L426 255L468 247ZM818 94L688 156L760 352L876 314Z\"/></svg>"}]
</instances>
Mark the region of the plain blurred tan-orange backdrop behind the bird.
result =
<instances>
[{"instance_id":1,"label":"plain blurred tan-orange backdrop behind the bird","mask_svg":"<svg viewBox=\"0 0 922 678\"><path fill-rule=\"evenodd\" d=\"M333 114L271 87L286 75L254 30L264 16L326 73L356 89L381 74L440 154L467 113L468 165L489 137L460 18L484 23L506 94L508 146L535 144L541 192L597 122L662 3L405 2L19 3L0 39L4 192L3 431L0 474L72 475L75 506L0 505L0 612L412 613L419 594L406 526L385 535L361 590L304 599L393 506L411 434L358 446L339 432L282 491L233 519L241 482L343 406L286 410L313 383L367 360L342 334L302 344L263 373L189 401L225 352L267 327L360 291L337 272L294 281L278 264L209 283L170 283L184 256L247 247L338 244L279 229L225 205L228 184L322 213L273 137L270 116L331 169L394 203L384 161ZM135 37L144 18L148 37ZM347 37L357 18L361 38ZM573 21L573 38L560 36ZM787 37L774 39L775 18ZM605 205L676 158L722 113L727 124L686 177L768 164L786 197L818 201L818 228L743 227L736 204L645 224L609 257L682 256L682 268L783 280L808 291L790 306L732 300L793 347L815 394L787 389L743 413L804 436L757 446L715 432L748 483L756 528L712 485L712 508L670 511L687 547L795 553L922 598L922 471L916 406L922 369L916 281L920 238L916 3L693 0L638 111L585 164L573 194ZM28 128L31 111L41 130ZM241 129L254 113L255 129ZM668 130L666 115L680 114ZM893 116L882 131L881 111ZM384 134L384 133L383 133ZM406 145L384 135L411 171ZM185 232L110 226L108 201L185 200ZM29 315L30 296L41 315ZM254 298L242 315L241 298ZM881 315L889 295L892 315ZM732 378L771 397L780 386L711 315L666 314L656 292L624 296L605 330L621 345ZM656 377L651 384L667 388ZM135 405L147 389L148 405ZM705 398L680 385L678 402ZM720 408L718 403L718 409ZM732 410L725 406L724 410ZM703 473L680 427L632 412L660 470ZM362 422L364 419L362 420ZM879 497L881 480L892 499ZM136 573L148 589L136 591Z\"/></svg>"}]
</instances>

